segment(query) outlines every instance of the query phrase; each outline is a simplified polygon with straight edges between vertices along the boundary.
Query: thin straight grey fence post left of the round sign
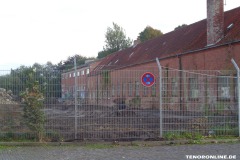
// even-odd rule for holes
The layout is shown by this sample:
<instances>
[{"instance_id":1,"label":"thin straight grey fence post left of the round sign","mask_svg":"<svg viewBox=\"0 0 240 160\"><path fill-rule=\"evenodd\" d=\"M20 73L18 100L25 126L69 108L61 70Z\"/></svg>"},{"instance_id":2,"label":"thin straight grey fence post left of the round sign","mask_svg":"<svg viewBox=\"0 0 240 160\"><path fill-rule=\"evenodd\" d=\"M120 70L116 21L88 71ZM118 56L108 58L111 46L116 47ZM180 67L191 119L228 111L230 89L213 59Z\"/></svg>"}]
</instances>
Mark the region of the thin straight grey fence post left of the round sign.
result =
<instances>
[{"instance_id":1,"label":"thin straight grey fence post left of the round sign","mask_svg":"<svg viewBox=\"0 0 240 160\"><path fill-rule=\"evenodd\" d=\"M74 70L75 70L75 77L74 77L74 90L75 90L75 99L74 99L74 139L77 139L77 62L76 62L76 57L74 57Z\"/></svg>"}]
</instances>

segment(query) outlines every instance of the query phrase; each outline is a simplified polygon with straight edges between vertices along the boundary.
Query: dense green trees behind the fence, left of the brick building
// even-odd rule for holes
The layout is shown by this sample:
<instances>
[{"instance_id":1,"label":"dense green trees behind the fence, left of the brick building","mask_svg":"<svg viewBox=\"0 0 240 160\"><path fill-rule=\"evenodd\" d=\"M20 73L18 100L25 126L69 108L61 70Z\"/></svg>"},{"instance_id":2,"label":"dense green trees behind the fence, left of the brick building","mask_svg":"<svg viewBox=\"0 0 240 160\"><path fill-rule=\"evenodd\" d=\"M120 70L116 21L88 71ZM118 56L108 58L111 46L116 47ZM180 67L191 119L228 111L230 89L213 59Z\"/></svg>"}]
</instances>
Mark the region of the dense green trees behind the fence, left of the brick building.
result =
<instances>
[{"instance_id":1,"label":"dense green trees behind the fence, left of the brick building","mask_svg":"<svg viewBox=\"0 0 240 160\"><path fill-rule=\"evenodd\" d=\"M9 74L0 76L0 88L11 90L16 98L28 87L29 70L35 70L34 78L41 87L45 87L45 100L61 97L61 70L48 62L45 65L35 63L33 66L20 66Z\"/></svg>"}]
</instances>

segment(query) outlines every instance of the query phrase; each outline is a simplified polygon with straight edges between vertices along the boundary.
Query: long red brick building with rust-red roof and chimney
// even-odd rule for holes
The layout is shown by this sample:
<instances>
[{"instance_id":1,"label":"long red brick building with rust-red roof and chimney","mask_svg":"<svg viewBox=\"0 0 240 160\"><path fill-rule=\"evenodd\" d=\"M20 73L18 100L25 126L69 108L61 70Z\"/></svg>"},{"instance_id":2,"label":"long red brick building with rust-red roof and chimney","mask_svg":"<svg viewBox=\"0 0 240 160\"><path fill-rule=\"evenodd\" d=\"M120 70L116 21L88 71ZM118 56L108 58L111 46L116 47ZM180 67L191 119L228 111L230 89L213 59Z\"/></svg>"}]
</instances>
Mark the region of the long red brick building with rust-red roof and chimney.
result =
<instances>
[{"instance_id":1,"label":"long red brick building with rust-red roof and chimney","mask_svg":"<svg viewBox=\"0 0 240 160\"><path fill-rule=\"evenodd\" d=\"M140 105L139 101L141 101L141 107L157 107L159 83L151 87L141 85L143 73L152 72L158 75L156 58L164 68L163 75L167 77L163 81L168 85L164 85L163 90L171 92L166 94L167 97L171 97L174 104L181 104L183 101L187 103L189 99L191 102L193 99L207 101L206 98L199 98L204 94L199 89L204 88L200 83L203 79L189 76L185 81L189 84L187 87L192 90L185 93L183 82L181 82L182 72L178 72L173 77L170 69L199 72L201 70L234 70L231 59L235 59L240 64L240 7L224 12L223 0L208 0L207 19L144 43L136 43L130 48L120 50L97 62L81 66L79 70L90 69L82 78L78 78L78 87L80 87L78 91L84 92L84 96L80 95L80 97L87 99L89 104L111 106L114 100L123 98L129 106ZM74 86L72 74L74 74L73 70L63 74L65 78L62 81L62 87L63 92L71 92L73 95L74 89L71 90L69 87ZM222 75L226 74L229 73L222 73ZM231 75L235 74L231 73ZM199 86L194 89L197 81L199 81ZM223 81L222 87L217 84L219 81ZM236 96L234 91L236 85L228 86L230 84L228 78L217 79L214 82L207 80L207 82L216 85L208 86L213 90L215 87L224 90L223 93L220 93L218 89L207 93L216 95L209 101L217 101L219 97L229 102L234 101L234 98L229 98L228 94ZM182 95L187 95L188 100L184 100ZM188 107L184 106L183 109L188 109Z\"/></svg>"}]
</instances>

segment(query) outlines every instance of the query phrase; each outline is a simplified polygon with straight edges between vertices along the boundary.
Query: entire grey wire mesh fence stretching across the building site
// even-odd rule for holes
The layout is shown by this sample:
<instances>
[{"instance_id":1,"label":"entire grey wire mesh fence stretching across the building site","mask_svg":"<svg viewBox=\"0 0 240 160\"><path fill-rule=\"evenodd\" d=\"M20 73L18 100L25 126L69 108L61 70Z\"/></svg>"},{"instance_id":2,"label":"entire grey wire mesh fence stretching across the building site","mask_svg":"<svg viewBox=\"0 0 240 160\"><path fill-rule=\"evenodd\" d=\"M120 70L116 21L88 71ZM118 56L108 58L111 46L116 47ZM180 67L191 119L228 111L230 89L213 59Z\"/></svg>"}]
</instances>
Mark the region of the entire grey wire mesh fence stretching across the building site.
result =
<instances>
[{"instance_id":1,"label":"entire grey wire mesh fence stretching across the building site","mask_svg":"<svg viewBox=\"0 0 240 160\"><path fill-rule=\"evenodd\" d=\"M160 117L157 65L103 68L34 71L34 79L44 88L41 110L47 140L146 140L158 139L160 132L165 137L238 135L236 71L163 68ZM146 87L142 76L149 72L155 83ZM0 71L2 138L35 136L23 118L20 93L27 88L26 74L24 69Z\"/></svg>"}]
</instances>

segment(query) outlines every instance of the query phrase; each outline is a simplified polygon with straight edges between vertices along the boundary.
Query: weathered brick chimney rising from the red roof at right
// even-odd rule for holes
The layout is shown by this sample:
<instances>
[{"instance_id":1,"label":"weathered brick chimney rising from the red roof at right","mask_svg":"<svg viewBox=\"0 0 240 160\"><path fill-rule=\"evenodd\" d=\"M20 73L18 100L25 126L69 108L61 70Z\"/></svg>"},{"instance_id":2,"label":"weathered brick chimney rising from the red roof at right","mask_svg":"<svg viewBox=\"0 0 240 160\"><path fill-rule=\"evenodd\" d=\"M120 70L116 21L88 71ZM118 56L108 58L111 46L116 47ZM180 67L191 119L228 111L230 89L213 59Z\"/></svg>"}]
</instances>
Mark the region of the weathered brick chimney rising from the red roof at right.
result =
<instances>
[{"instance_id":1,"label":"weathered brick chimney rising from the red roof at right","mask_svg":"<svg viewBox=\"0 0 240 160\"><path fill-rule=\"evenodd\" d=\"M207 45L214 45L223 36L223 0L207 0Z\"/></svg>"}]
</instances>

